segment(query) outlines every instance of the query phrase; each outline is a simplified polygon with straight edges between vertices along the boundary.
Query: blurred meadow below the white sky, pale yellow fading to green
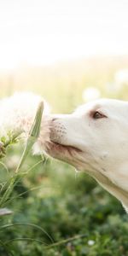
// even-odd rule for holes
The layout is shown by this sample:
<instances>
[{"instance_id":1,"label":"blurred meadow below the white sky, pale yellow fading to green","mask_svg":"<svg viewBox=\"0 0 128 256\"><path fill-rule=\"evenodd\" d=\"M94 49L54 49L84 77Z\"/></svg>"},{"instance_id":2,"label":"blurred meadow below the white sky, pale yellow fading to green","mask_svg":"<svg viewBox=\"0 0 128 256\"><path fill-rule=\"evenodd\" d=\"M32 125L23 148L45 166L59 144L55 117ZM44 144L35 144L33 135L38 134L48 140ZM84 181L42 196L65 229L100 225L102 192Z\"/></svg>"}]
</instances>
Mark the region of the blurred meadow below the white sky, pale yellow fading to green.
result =
<instances>
[{"instance_id":1,"label":"blurred meadow below the white sky, pale yellow fading to green","mask_svg":"<svg viewBox=\"0 0 128 256\"><path fill-rule=\"evenodd\" d=\"M23 65L0 73L0 96L31 90L52 113L71 113L87 102L84 91L128 100L128 56ZM14 143L0 161L1 188L15 172L24 144ZM128 217L119 201L91 177L44 155L29 154L0 216L1 256L126 256ZM1 198L2 198L1 193Z\"/></svg>"}]
</instances>

